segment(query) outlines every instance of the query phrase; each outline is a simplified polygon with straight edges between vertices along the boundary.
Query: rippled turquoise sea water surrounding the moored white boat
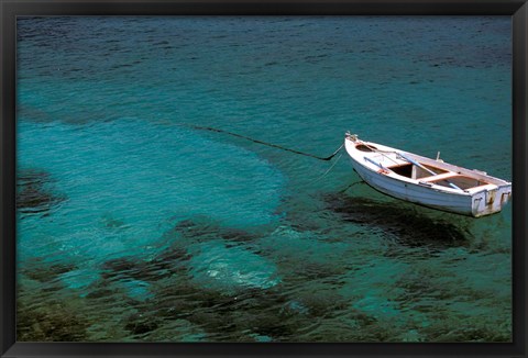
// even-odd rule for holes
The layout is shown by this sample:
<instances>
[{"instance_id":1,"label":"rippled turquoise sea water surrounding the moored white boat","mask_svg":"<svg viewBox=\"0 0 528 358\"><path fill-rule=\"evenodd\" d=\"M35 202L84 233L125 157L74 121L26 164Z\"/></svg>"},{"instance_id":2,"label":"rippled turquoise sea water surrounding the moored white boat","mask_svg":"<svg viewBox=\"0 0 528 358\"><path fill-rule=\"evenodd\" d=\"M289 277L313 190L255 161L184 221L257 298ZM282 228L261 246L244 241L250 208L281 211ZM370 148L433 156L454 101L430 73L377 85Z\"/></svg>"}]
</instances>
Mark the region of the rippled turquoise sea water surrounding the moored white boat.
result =
<instances>
[{"instance_id":1,"label":"rippled turquoise sea water surrounding the moored white boat","mask_svg":"<svg viewBox=\"0 0 528 358\"><path fill-rule=\"evenodd\" d=\"M512 180L510 59L507 16L21 19L18 339L510 342L510 204L182 125Z\"/></svg>"}]
</instances>

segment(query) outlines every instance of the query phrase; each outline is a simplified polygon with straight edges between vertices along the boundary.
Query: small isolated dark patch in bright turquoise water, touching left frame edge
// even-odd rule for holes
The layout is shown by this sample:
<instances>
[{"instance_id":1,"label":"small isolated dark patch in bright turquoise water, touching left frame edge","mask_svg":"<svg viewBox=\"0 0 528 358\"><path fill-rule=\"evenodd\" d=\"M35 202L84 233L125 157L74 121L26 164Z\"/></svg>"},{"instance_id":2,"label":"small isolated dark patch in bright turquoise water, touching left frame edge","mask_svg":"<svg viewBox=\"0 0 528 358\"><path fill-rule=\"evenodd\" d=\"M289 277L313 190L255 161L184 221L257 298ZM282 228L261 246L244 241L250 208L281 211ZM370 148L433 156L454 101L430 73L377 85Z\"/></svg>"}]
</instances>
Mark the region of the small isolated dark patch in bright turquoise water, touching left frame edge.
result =
<instances>
[{"instance_id":1,"label":"small isolated dark patch in bright turquoise water, touching left frame edge","mask_svg":"<svg viewBox=\"0 0 528 358\"><path fill-rule=\"evenodd\" d=\"M20 170L16 174L16 210L24 214L43 214L64 201L64 197L55 195L46 188L50 181L45 171Z\"/></svg>"}]
</instances>

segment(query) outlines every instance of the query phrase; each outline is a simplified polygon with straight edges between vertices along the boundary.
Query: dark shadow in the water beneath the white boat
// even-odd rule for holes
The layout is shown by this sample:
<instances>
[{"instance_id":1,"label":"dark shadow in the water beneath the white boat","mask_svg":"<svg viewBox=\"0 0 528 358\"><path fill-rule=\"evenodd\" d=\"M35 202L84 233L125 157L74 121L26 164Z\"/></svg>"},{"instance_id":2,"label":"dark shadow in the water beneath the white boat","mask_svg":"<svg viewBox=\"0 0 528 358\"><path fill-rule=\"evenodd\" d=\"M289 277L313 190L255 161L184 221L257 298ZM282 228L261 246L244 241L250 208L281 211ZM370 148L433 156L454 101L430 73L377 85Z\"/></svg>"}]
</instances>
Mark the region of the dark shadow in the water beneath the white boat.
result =
<instances>
[{"instance_id":1,"label":"dark shadow in the water beneath the white boat","mask_svg":"<svg viewBox=\"0 0 528 358\"><path fill-rule=\"evenodd\" d=\"M409 247L444 249L469 245L471 234L466 230L391 202L344 195L328 195L326 201L343 221L380 228Z\"/></svg>"}]
</instances>

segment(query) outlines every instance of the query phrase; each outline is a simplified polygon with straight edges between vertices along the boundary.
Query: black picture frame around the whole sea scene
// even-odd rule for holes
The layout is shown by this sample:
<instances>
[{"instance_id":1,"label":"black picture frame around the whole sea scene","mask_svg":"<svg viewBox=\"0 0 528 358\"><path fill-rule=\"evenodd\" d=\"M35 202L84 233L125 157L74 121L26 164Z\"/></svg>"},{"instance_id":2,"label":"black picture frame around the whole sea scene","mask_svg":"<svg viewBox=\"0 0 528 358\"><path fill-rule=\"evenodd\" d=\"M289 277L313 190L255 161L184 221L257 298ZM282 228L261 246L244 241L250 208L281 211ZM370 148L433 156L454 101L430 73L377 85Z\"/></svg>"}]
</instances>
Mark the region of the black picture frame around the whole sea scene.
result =
<instances>
[{"instance_id":1,"label":"black picture frame around the whole sea scene","mask_svg":"<svg viewBox=\"0 0 528 358\"><path fill-rule=\"evenodd\" d=\"M15 340L15 25L19 15L512 15L513 343L480 344L88 344ZM0 356L1 357L526 357L527 34L526 0L0 0Z\"/></svg>"}]
</instances>

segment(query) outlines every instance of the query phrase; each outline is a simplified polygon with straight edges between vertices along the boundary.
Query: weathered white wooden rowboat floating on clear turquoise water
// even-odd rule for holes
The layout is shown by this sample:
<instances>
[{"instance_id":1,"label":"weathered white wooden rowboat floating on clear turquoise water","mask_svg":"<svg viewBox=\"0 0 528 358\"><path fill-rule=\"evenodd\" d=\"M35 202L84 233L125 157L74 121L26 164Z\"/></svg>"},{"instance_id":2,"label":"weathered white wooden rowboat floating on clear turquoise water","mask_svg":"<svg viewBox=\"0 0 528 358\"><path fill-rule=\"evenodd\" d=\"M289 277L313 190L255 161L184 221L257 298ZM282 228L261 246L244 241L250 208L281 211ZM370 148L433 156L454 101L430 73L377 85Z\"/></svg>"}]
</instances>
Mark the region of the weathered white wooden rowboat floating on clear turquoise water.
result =
<instances>
[{"instance_id":1,"label":"weathered white wooden rowboat floating on clear turquoise water","mask_svg":"<svg viewBox=\"0 0 528 358\"><path fill-rule=\"evenodd\" d=\"M512 182L345 134L358 175L374 189L413 203L480 217L499 212Z\"/></svg>"}]
</instances>

